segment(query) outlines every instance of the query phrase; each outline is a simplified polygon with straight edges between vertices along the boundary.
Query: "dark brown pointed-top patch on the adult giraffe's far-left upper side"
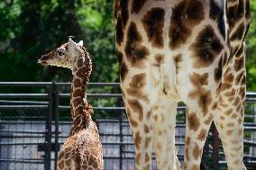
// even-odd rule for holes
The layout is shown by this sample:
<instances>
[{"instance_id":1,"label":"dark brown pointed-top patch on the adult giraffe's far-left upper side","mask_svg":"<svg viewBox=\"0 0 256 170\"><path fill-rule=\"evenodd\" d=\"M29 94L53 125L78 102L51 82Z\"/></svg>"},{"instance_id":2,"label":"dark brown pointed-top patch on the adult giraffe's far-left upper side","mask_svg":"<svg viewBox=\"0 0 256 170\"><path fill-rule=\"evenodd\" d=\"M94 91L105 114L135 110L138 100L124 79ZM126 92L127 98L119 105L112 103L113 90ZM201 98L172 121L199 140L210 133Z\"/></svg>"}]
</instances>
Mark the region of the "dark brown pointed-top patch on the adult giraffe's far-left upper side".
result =
<instances>
[{"instance_id":1,"label":"dark brown pointed-top patch on the adult giraffe's far-left upper side","mask_svg":"<svg viewBox=\"0 0 256 170\"><path fill-rule=\"evenodd\" d=\"M138 32L135 22L131 22L129 26L124 51L133 67L144 67L142 60L149 55L149 49L142 46L142 35Z\"/></svg>"}]
</instances>

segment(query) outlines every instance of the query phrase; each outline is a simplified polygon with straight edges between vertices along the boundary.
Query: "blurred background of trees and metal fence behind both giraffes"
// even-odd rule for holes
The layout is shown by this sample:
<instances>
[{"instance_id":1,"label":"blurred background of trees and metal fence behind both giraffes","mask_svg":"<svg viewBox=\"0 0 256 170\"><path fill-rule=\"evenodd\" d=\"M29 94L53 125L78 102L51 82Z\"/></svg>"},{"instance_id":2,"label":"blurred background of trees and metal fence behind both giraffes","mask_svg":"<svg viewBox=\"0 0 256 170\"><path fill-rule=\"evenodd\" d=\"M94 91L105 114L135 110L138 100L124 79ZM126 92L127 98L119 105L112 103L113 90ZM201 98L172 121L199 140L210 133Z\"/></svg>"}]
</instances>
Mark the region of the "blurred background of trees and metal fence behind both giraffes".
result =
<instances>
[{"instance_id":1,"label":"blurred background of trees and metal fence behind both giraffes","mask_svg":"<svg viewBox=\"0 0 256 170\"><path fill-rule=\"evenodd\" d=\"M84 40L92 55L88 102L94 106L106 170L133 170L132 132L119 89L114 52L114 0L0 0L0 170L50 170L69 136L71 71L42 67L38 58L68 41ZM247 43L244 160L256 169L256 1L251 0ZM37 82L37 83L35 83ZM41 83L38 83L41 82ZM48 83L46 83L48 82ZM59 83L60 82L60 83ZM178 107L176 145L184 158L185 107ZM153 156L154 159L154 156ZM153 161L152 169L156 169ZM226 169L215 129L202 169Z\"/></svg>"}]
</instances>

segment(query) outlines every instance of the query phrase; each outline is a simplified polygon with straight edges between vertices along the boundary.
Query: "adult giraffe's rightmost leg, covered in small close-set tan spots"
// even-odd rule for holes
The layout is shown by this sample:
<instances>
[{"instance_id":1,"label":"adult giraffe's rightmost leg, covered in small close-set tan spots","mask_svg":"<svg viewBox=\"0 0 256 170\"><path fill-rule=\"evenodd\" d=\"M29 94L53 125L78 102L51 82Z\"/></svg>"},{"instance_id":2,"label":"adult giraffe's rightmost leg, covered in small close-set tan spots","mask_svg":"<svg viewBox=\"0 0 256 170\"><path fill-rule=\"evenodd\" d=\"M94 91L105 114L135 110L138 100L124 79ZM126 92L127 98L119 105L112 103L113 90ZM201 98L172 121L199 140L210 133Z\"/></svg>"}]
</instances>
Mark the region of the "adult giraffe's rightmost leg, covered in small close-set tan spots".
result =
<instances>
[{"instance_id":1,"label":"adult giraffe's rightmost leg, covered in small close-set tan spots","mask_svg":"<svg viewBox=\"0 0 256 170\"><path fill-rule=\"evenodd\" d=\"M229 170L246 169L243 157L243 112L245 105L244 47L237 52L226 69L215 124L223 143Z\"/></svg>"}]
</instances>

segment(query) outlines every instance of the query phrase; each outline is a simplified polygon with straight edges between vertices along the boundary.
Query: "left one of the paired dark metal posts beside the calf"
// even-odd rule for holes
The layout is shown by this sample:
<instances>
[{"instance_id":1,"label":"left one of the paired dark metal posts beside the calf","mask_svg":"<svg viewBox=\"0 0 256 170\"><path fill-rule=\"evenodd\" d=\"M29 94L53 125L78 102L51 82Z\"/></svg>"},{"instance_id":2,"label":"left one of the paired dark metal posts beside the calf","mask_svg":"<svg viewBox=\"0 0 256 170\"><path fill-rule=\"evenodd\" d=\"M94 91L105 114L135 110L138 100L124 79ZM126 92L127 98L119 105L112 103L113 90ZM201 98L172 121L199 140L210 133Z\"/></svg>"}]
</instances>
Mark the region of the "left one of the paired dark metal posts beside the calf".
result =
<instances>
[{"instance_id":1,"label":"left one of the paired dark metal posts beside the calf","mask_svg":"<svg viewBox=\"0 0 256 170\"><path fill-rule=\"evenodd\" d=\"M45 140L46 140L46 149L45 149L45 166L44 169L45 170L50 170L50 152L51 152L51 121L52 121L52 84L48 86L48 90L49 90L49 111L48 111L48 115L46 115L48 117L47 121L46 121L46 136L45 136Z\"/></svg>"}]
</instances>

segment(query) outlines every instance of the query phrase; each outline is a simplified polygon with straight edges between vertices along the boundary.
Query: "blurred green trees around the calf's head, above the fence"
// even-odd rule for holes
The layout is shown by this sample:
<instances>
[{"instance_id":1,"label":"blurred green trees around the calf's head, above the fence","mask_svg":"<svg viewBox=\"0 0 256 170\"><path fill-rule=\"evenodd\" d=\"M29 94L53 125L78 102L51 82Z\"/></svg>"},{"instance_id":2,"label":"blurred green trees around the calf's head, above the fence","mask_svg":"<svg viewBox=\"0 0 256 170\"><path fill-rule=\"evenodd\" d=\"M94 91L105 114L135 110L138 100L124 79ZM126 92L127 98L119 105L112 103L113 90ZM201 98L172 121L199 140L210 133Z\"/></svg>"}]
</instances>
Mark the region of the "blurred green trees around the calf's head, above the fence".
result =
<instances>
[{"instance_id":1,"label":"blurred green trees around the calf's head, above the fence","mask_svg":"<svg viewBox=\"0 0 256 170\"><path fill-rule=\"evenodd\" d=\"M107 0L1 1L0 81L70 81L69 70L37 64L69 35L93 56L91 81L118 81L112 8Z\"/></svg>"}]
</instances>

